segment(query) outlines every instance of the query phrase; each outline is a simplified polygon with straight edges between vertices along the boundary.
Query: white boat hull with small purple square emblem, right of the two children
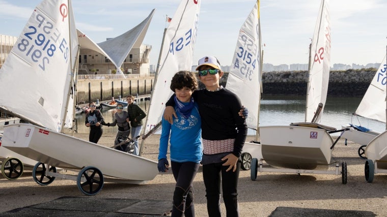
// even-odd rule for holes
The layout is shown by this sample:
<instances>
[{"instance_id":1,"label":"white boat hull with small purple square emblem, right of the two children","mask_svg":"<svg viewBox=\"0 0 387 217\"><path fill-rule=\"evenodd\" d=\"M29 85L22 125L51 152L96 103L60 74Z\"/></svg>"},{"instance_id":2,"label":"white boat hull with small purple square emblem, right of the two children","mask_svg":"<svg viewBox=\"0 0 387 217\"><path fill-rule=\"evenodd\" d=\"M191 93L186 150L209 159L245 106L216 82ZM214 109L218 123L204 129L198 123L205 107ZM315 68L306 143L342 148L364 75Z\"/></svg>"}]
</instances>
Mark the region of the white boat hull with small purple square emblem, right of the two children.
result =
<instances>
[{"instance_id":1,"label":"white boat hull with small purple square emblem, right of the two children","mask_svg":"<svg viewBox=\"0 0 387 217\"><path fill-rule=\"evenodd\" d=\"M270 166L288 169L327 169L332 137L324 129L300 126L260 127L262 158Z\"/></svg>"}]
</instances>

